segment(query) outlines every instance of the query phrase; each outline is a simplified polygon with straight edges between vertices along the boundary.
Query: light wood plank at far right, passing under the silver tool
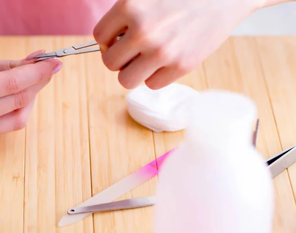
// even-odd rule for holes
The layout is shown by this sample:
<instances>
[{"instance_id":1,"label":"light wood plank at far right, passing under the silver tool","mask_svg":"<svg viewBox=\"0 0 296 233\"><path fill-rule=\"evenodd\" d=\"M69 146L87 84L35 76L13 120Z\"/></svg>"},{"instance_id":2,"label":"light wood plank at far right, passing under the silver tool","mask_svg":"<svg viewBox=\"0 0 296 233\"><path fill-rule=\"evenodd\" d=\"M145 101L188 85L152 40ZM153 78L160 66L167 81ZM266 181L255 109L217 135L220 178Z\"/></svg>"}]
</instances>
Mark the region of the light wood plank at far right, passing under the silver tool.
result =
<instances>
[{"instance_id":1,"label":"light wood plank at far right, passing under the silver tool","mask_svg":"<svg viewBox=\"0 0 296 233\"><path fill-rule=\"evenodd\" d=\"M281 38L281 40L258 38L256 41L280 142L283 149L289 148L296 142L295 38ZM296 219L296 165L292 165L288 171L276 177L275 181L278 194L275 230L294 233L296 232L294 222Z\"/></svg>"}]
</instances>

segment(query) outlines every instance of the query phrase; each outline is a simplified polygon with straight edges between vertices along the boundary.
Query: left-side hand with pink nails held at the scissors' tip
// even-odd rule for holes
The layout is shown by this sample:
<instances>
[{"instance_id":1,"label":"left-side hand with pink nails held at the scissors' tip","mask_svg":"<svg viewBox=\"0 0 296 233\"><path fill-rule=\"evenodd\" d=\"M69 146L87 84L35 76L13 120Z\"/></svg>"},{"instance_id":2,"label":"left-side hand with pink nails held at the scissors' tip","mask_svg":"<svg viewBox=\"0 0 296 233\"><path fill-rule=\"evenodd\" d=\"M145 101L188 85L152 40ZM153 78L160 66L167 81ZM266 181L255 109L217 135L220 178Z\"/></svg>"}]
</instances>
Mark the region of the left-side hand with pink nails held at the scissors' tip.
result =
<instances>
[{"instance_id":1,"label":"left-side hand with pink nails held at the scissors' tip","mask_svg":"<svg viewBox=\"0 0 296 233\"><path fill-rule=\"evenodd\" d=\"M26 126L37 93L61 70L62 62L34 63L39 50L22 60L0 60L0 134Z\"/></svg>"}]
</instances>

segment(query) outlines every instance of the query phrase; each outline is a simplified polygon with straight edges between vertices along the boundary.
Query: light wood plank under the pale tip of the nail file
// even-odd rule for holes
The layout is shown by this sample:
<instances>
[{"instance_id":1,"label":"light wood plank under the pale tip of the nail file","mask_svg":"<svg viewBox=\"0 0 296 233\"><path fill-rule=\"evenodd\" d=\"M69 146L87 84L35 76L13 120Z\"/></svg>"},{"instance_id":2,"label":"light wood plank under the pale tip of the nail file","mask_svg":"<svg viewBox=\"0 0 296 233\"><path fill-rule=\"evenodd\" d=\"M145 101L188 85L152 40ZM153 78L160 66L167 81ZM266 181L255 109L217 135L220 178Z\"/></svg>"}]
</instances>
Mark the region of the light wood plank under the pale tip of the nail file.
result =
<instances>
[{"instance_id":1,"label":"light wood plank under the pale tip of the nail file","mask_svg":"<svg viewBox=\"0 0 296 233\"><path fill-rule=\"evenodd\" d=\"M82 42L31 39L31 50L50 51ZM91 197L84 57L69 56L66 63L38 95L27 127L25 233L93 230L92 218L67 229L56 227L68 208Z\"/></svg>"}]
</instances>

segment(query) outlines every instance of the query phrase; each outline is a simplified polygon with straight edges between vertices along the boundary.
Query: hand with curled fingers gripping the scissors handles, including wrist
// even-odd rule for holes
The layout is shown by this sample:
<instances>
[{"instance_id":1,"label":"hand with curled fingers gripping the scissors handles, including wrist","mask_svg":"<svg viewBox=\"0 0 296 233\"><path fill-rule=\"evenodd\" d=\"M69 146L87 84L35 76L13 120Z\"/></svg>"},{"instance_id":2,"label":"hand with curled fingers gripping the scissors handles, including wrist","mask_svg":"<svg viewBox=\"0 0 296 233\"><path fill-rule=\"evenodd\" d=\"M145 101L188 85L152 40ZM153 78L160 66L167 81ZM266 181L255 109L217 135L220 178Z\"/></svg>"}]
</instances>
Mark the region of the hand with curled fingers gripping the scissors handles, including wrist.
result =
<instances>
[{"instance_id":1,"label":"hand with curled fingers gripping the scissors handles, including wrist","mask_svg":"<svg viewBox=\"0 0 296 233\"><path fill-rule=\"evenodd\" d=\"M276 0L274 0L276 1ZM128 89L191 72L265 0L118 0L94 29L104 64ZM124 29L125 35L115 38Z\"/></svg>"}]
</instances>

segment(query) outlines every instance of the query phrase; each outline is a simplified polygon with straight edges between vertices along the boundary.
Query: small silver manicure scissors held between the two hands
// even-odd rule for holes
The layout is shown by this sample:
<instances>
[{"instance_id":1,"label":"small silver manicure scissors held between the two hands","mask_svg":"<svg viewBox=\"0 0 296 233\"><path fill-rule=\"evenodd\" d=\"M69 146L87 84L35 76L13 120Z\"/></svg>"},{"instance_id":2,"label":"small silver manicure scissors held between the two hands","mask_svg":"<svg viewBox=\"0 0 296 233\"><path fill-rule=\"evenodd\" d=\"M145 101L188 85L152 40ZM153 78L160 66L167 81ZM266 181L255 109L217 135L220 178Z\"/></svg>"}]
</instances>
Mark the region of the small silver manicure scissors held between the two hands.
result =
<instances>
[{"instance_id":1,"label":"small silver manicure scissors held between the two hands","mask_svg":"<svg viewBox=\"0 0 296 233\"><path fill-rule=\"evenodd\" d=\"M122 36L124 36L123 33L119 34L117 39L120 39ZM73 55L73 54L76 55L76 54L100 51L100 46L95 46L95 47L89 48L90 46L97 45L97 44L98 44L97 41L94 40L94 41L74 45L74 46L68 47L68 48L60 48L54 52L44 53L44 54L34 57L34 58L37 58L35 60L35 62L54 58L54 57L65 57L65 56L69 56L69 55Z\"/></svg>"}]
</instances>

